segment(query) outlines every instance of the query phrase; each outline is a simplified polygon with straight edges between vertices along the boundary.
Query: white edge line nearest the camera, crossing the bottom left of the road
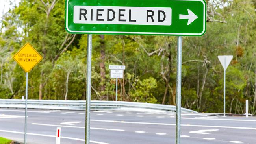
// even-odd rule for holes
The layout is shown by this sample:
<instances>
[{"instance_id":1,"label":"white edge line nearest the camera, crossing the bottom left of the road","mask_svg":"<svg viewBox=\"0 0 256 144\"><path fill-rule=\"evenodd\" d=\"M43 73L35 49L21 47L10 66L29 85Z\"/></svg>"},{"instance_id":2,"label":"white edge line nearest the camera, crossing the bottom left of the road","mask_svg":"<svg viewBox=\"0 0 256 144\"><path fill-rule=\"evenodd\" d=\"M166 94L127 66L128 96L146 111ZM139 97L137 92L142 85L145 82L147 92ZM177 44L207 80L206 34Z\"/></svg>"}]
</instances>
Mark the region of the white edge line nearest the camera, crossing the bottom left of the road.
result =
<instances>
[{"instance_id":1,"label":"white edge line nearest the camera, crossing the bottom left of the road","mask_svg":"<svg viewBox=\"0 0 256 144\"><path fill-rule=\"evenodd\" d=\"M19 131L7 131L7 130L1 130L0 132L5 132L5 133L18 133L18 134L23 134L24 132L19 132ZM27 133L27 135L37 135L37 136L43 136L43 137L56 137L56 135L44 135L44 134L39 134L39 133ZM78 141L85 141L83 139L80 138L72 138L72 137L62 137L61 138L65 138L65 139L70 139L70 140L78 140ZM95 143L95 144L109 144L109 143L105 143L105 142L97 142L97 141L93 141L90 140L91 143Z\"/></svg>"}]
</instances>

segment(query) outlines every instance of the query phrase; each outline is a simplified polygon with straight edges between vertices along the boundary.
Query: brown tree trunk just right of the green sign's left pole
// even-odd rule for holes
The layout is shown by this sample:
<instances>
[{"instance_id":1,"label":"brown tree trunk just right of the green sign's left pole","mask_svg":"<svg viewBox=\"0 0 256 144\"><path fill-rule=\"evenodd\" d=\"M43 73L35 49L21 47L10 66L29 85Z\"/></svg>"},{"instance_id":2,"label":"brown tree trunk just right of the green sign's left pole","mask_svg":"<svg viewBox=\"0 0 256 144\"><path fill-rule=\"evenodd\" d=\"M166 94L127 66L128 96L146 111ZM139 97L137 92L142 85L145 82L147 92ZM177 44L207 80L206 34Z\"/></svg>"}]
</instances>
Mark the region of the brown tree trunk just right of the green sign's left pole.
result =
<instances>
[{"instance_id":1,"label":"brown tree trunk just right of the green sign's left pole","mask_svg":"<svg viewBox=\"0 0 256 144\"><path fill-rule=\"evenodd\" d=\"M100 91L105 90L105 74L106 74L106 68L105 68L105 40L104 35L100 35L101 41L100 41ZM103 98L106 100L105 96Z\"/></svg>"}]
</instances>

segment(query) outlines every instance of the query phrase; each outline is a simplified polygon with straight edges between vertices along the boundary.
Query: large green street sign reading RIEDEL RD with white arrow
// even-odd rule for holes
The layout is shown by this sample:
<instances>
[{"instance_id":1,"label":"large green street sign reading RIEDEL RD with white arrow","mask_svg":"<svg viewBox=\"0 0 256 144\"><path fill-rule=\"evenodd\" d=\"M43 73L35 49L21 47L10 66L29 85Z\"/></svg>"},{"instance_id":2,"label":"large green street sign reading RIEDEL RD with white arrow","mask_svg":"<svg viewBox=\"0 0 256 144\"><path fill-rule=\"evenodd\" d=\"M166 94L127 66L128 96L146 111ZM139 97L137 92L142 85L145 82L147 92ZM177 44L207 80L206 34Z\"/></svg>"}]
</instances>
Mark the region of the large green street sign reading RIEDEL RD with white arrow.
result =
<instances>
[{"instance_id":1,"label":"large green street sign reading RIEDEL RD with white arrow","mask_svg":"<svg viewBox=\"0 0 256 144\"><path fill-rule=\"evenodd\" d=\"M78 34L202 36L206 2L66 0L65 29Z\"/></svg>"}]
</instances>

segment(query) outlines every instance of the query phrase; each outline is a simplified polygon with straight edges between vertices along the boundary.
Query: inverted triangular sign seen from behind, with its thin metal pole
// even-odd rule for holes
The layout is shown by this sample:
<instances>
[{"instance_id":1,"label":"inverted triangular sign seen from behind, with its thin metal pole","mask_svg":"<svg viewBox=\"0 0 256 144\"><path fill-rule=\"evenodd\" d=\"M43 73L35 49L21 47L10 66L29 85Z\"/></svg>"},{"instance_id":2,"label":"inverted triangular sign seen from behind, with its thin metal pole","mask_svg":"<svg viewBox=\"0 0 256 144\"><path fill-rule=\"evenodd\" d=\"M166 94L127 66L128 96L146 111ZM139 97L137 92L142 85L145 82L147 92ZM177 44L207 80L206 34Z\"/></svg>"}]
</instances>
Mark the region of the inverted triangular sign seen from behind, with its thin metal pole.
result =
<instances>
[{"instance_id":1,"label":"inverted triangular sign seen from behind, with its thin metal pole","mask_svg":"<svg viewBox=\"0 0 256 144\"><path fill-rule=\"evenodd\" d=\"M228 68L228 65L233 59L233 55L219 55L218 59L224 68L224 92L223 92L224 93L224 106L223 106L224 115L223 116L226 116L226 69Z\"/></svg>"}]
</instances>

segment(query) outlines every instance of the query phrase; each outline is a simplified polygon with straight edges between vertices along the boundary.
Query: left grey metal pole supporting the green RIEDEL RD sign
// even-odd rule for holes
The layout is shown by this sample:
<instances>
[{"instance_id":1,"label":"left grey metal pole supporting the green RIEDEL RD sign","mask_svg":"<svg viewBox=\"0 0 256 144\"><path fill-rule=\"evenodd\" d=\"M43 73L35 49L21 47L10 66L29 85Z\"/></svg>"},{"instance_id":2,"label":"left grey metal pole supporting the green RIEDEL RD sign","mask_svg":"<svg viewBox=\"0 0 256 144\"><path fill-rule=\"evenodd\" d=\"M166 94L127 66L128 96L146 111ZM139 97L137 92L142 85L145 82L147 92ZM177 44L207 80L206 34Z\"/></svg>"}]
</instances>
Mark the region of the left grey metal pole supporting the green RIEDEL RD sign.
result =
<instances>
[{"instance_id":1,"label":"left grey metal pole supporting the green RIEDEL RD sign","mask_svg":"<svg viewBox=\"0 0 256 144\"><path fill-rule=\"evenodd\" d=\"M91 51L92 35L87 37L87 86L86 86L86 112L85 112L85 144L90 144L90 106L91 106Z\"/></svg>"}]
</instances>

